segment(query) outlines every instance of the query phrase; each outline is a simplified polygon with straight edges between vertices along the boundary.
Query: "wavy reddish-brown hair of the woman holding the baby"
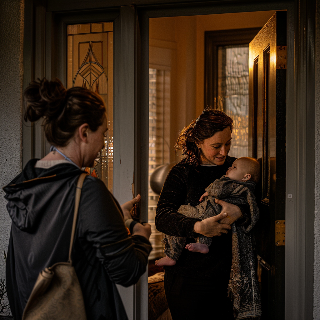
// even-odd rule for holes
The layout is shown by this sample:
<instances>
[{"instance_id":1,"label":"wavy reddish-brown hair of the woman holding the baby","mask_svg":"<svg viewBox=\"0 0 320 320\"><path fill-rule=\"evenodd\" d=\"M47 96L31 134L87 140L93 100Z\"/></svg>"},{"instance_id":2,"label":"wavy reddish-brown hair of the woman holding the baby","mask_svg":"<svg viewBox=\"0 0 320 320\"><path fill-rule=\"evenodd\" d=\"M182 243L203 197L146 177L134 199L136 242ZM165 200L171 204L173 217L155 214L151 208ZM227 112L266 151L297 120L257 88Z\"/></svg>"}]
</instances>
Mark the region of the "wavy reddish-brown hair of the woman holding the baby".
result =
<instances>
[{"instance_id":1,"label":"wavy reddish-brown hair of the woman holding the baby","mask_svg":"<svg viewBox=\"0 0 320 320\"><path fill-rule=\"evenodd\" d=\"M200 116L182 129L175 144L175 150L182 151L182 158L185 158L186 162L201 164L201 150L196 146L196 142L201 143L228 127L232 131L233 121L223 111L204 110Z\"/></svg>"}]
</instances>

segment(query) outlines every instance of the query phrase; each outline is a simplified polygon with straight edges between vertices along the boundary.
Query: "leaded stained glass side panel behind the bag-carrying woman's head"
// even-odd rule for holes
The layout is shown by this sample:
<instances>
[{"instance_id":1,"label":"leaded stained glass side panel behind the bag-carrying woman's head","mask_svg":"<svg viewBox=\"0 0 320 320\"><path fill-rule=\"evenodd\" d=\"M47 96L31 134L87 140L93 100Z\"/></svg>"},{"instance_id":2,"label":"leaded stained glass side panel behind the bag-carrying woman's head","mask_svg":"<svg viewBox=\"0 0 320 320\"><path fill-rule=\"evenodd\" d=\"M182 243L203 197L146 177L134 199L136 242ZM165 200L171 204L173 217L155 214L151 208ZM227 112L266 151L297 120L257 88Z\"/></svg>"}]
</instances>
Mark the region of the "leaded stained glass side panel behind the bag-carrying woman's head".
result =
<instances>
[{"instance_id":1,"label":"leaded stained glass side panel behind the bag-carrying woman's head","mask_svg":"<svg viewBox=\"0 0 320 320\"><path fill-rule=\"evenodd\" d=\"M86 168L112 192L113 173L113 23L68 25L67 86L97 92L105 102L108 131L94 168Z\"/></svg>"}]
</instances>

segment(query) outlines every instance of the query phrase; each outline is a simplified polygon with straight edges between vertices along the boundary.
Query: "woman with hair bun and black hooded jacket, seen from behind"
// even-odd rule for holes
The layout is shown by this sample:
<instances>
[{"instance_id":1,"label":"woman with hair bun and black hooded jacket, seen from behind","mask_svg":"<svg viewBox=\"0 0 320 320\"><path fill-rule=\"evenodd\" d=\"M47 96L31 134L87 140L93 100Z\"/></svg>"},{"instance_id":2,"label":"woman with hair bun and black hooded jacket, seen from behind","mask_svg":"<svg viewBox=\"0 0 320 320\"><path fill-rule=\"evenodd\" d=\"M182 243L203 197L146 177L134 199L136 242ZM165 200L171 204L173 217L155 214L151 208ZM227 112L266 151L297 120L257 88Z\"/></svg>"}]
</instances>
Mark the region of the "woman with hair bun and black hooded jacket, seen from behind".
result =
<instances>
[{"instance_id":1,"label":"woman with hair bun and black hooded jacket, seen from behind","mask_svg":"<svg viewBox=\"0 0 320 320\"><path fill-rule=\"evenodd\" d=\"M12 219L6 282L14 319L44 268L68 260L76 184L92 167L108 128L101 97L85 88L33 81L24 92L25 120L44 118L52 151L31 159L6 187ZM124 219L140 195L121 207L104 183L87 176L82 187L72 260L87 319L127 319L115 284L135 284L145 272L151 245L149 224L136 223L128 236Z\"/></svg>"}]
</instances>

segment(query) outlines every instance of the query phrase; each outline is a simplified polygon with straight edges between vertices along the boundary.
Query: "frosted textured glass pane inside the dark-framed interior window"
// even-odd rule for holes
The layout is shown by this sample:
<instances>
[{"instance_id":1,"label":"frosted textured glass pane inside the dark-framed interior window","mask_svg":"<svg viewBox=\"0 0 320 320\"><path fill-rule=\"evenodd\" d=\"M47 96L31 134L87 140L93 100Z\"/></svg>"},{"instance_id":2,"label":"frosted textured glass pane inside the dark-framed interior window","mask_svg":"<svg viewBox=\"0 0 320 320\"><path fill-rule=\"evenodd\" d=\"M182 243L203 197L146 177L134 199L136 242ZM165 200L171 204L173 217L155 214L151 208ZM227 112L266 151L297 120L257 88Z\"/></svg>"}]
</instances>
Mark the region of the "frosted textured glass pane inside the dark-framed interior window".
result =
<instances>
[{"instance_id":1,"label":"frosted textured glass pane inside the dark-framed interior window","mask_svg":"<svg viewBox=\"0 0 320 320\"><path fill-rule=\"evenodd\" d=\"M249 45L218 48L217 108L233 119L229 156L248 156Z\"/></svg>"}]
</instances>

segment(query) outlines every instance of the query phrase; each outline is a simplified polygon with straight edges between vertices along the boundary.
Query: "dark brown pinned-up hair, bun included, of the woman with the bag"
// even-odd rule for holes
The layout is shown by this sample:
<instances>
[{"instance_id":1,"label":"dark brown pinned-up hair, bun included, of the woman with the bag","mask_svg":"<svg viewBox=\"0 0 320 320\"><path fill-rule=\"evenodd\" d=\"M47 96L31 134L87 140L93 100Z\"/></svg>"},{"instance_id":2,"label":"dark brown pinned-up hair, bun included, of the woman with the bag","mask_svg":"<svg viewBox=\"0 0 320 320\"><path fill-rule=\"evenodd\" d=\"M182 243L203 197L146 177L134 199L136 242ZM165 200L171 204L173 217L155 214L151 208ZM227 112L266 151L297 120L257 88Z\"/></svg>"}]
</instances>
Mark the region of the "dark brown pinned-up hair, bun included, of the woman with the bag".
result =
<instances>
[{"instance_id":1,"label":"dark brown pinned-up hair, bun included, of the woman with the bag","mask_svg":"<svg viewBox=\"0 0 320 320\"><path fill-rule=\"evenodd\" d=\"M96 131L106 107L101 97L88 89L66 89L59 79L32 81L23 93L25 121L44 117L45 136L54 146L64 147L84 123Z\"/></svg>"}]
</instances>

